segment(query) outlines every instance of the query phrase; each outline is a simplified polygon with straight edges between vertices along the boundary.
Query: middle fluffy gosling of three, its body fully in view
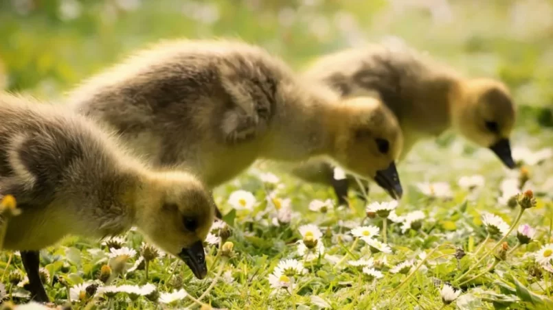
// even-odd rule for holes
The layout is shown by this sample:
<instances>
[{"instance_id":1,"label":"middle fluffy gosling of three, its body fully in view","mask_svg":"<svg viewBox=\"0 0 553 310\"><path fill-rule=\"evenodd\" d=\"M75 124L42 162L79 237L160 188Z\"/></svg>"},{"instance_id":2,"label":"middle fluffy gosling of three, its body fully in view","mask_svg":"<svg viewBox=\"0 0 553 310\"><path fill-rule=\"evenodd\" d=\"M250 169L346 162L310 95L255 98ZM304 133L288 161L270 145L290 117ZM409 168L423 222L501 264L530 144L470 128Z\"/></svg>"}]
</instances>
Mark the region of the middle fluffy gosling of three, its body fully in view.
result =
<instances>
[{"instance_id":1,"label":"middle fluffy gosling of three, its body fully in view","mask_svg":"<svg viewBox=\"0 0 553 310\"><path fill-rule=\"evenodd\" d=\"M394 160L403 136L376 98L303 83L278 57L234 40L170 40L139 51L69 93L69 106L122 136L158 167L191 169L207 184L256 159L321 157L403 190Z\"/></svg>"}]
</instances>

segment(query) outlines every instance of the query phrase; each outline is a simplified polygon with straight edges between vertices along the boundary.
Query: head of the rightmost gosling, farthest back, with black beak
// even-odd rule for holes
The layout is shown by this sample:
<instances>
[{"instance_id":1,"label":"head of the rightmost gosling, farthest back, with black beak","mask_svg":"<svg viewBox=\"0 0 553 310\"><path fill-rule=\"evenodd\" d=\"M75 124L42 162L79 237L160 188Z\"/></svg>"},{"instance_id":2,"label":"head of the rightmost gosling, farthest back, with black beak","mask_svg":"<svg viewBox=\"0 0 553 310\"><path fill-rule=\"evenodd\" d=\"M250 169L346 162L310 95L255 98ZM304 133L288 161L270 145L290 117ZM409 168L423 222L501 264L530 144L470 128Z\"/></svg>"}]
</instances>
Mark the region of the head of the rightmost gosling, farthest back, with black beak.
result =
<instances>
[{"instance_id":1,"label":"head of the rightmost gosling, farthest back, with black beak","mask_svg":"<svg viewBox=\"0 0 553 310\"><path fill-rule=\"evenodd\" d=\"M515 105L504 84L474 79L462 85L462 101L453 106L453 126L467 139L488 147L510 169L515 167L509 136L515 125Z\"/></svg>"}]
</instances>

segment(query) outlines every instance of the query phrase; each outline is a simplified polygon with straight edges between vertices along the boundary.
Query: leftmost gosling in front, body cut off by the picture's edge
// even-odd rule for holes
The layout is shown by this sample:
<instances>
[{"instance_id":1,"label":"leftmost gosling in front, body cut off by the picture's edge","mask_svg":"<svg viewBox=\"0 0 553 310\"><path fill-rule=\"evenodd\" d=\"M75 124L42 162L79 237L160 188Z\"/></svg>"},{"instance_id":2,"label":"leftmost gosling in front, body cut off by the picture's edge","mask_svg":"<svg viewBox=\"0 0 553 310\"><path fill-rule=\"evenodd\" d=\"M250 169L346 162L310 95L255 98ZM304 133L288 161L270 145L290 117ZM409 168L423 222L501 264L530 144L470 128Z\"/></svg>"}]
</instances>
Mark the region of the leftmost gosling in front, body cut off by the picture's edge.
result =
<instances>
[{"instance_id":1,"label":"leftmost gosling in front, body cut off by the picture's edge","mask_svg":"<svg viewBox=\"0 0 553 310\"><path fill-rule=\"evenodd\" d=\"M198 178L148 168L61 106L0 94L0 115L0 195L13 195L21 209L3 245L21 251L35 300L48 300L38 250L66 235L102 238L131 226L205 277L214 202Z\"/></svg>"}]
</instances>

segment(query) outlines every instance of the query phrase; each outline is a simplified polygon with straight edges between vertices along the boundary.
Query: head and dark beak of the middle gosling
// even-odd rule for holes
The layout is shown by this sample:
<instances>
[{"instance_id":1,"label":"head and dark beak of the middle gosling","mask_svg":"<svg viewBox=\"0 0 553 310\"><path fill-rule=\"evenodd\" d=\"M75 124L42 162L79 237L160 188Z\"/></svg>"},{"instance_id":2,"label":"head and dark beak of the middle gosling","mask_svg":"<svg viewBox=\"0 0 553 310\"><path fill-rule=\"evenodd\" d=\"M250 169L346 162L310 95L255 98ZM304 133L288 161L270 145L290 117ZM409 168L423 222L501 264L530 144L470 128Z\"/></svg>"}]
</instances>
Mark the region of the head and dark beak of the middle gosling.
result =
<instances>
[{"instance_id":1,"label":"head and dark beak of the middle gosling","mask_svg":"<svg viewBox=\"0 0 553 310\"><path fill-rule=\"evenodd\" d=\"M353 174L372 178L392 198L403 189L395 161L403 147L403 134L392 111L379 99L354 97L339 104L335 119L334 159Z\"/></svg>"}]
</instances>

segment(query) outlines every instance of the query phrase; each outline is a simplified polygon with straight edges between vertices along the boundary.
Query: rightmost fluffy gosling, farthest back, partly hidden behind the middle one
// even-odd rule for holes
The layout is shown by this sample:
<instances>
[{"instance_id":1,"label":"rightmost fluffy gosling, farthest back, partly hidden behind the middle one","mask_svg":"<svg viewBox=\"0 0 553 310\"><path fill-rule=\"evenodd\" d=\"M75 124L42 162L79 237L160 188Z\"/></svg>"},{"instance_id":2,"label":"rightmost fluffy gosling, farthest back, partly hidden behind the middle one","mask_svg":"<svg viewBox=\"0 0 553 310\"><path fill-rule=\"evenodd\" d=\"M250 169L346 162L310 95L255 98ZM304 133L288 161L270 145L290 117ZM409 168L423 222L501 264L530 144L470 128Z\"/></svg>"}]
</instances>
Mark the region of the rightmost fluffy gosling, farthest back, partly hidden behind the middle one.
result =
<instances>
[{"instance_id":1,"label":"rightmost fluffy gosling, farthest back, partly hidden behind the middle one","mask_svg":"<svg viewBox=\"0 0 553 310\"><path fill-rule=\"evenodd\" d=\"M400 160L420 139L453 128L469 141L488 147L506 167L515 167L509 142L515 105L508 88L497 80L466 78L407 45L387 44L323 56L304 71L303 77L329 86L341 97L380 98L394 112L403 131ZM293 174L302 177L321 170L320 163L309 165L295 167ZM327 177L326 184L332 182ZM343 195L343 188L337 191Z\"/></svg>"}]
</instances>

